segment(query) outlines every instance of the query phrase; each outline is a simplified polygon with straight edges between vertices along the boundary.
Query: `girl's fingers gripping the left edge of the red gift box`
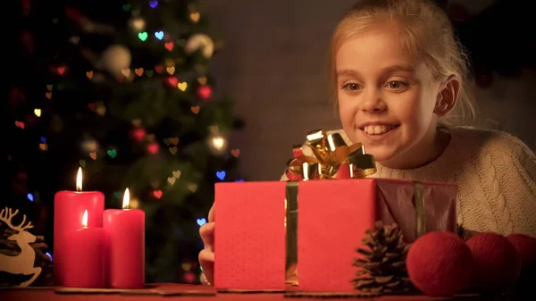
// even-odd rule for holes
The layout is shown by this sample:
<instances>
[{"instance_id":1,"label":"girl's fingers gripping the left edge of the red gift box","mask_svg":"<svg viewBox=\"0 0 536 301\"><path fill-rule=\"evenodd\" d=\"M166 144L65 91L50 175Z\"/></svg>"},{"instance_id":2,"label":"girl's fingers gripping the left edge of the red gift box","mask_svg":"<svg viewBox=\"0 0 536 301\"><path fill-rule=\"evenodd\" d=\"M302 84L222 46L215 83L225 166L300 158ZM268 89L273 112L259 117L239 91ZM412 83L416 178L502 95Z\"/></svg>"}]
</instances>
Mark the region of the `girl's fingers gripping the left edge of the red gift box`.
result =
<instances>
[{"instance_id":1,"label":"girl's fingers gripping the left edge of the red gift box","mask_svg":"<svg viewBox=\"0 0 536 301\"><path fill-rule=\"evenodd\" d=\"M205 249L199 252L199 264L203 268L206 280L214 285L214 205L208 213L208 222L199 228L199 235L203 239Z\"/></svg>"}]
</instances>

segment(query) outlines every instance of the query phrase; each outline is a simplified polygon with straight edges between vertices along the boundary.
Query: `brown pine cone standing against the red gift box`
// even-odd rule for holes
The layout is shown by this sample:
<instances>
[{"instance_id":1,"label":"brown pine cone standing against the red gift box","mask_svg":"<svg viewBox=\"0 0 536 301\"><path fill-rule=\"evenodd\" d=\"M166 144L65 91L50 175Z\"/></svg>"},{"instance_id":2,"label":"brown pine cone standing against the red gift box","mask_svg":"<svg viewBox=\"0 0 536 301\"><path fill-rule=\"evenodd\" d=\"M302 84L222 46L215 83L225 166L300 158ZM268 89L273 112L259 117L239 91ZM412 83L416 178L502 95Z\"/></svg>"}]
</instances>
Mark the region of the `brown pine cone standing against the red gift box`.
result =
<instances>
[{"instance_id":1,"label":"brown pine cone standing against the red gift box","mask_svg":"<svg viewBox=\"0 0 536 301\"><path fill-rule=\"evenodd\" d=\"M352 280L354 288L363 292L401 294L416 292L406 271L406 256L411 245L404 243L397 224L383 226L376 222L373 230L366 230L362 239L366 246L356 248L359 258L353 265L360 269Z\"/></svg>"}]
</instances>

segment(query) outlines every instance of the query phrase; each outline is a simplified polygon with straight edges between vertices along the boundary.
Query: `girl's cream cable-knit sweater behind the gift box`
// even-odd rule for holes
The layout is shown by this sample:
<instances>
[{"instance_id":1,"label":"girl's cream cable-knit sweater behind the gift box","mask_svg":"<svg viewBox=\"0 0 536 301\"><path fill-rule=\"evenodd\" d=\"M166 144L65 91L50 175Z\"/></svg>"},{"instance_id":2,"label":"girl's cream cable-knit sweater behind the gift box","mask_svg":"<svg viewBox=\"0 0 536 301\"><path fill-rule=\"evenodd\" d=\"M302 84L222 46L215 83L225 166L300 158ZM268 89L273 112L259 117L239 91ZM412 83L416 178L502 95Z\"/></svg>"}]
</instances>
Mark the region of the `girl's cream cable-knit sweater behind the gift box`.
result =
<instances>
[{"instance_id":1,"label":"girl's cream cable-knit sweater behind the gift box","mask_svg":"<svg viewBox=\"0 0 536 301\"><path fill-rule=\"evenodd\" d=\"M336 132L348 142L344 131ZM376 163L370 177L456 183L457 221L465 229L536 238L536 155L504 132L466 127L448 132L450 142L434 162L412 170Z\"/></svg>"}]
</instances>

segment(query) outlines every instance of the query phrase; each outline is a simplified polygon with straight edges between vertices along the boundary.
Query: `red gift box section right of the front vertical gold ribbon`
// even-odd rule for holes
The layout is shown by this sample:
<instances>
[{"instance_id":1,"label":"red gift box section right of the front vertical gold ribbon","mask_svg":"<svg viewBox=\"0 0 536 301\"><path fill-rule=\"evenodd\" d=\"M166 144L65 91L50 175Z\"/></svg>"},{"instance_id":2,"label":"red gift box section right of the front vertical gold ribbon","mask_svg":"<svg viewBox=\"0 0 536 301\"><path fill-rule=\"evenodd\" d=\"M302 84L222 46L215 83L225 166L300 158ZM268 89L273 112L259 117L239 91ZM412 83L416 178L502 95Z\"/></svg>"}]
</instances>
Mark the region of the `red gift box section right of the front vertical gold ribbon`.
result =
<instances>
[{"instance_id":1,"label":"red gift box section right of the front vertical gold ribbon","mask_svg":"<svg viewBox=\"0 0 536 301\"><path fill-rule=\"evenodd\" d=\"M417 183L418 185L418 183ZM423 183L424 231L456 230L456 185ZM299 184L297 275L306 291L351 291L352 266L365 230L397 223L417 238L415 183L407 180L313 180Z\"/></svg>"}]
</instances>

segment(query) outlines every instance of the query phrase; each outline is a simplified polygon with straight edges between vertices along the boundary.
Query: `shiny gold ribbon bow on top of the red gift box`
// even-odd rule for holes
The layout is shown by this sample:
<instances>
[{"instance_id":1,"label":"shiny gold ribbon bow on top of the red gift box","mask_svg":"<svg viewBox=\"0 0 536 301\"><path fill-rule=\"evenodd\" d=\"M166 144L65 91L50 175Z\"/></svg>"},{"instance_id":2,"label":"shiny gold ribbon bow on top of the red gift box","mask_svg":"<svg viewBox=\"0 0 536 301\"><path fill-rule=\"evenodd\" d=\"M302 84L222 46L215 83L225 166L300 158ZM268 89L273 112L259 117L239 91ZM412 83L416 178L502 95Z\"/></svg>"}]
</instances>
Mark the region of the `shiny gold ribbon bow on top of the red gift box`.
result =
<instances>
[{"instance_id":1,"label":"shiny gold ribbon bow on top of the red gift box","mask_svg":"<svg viewBox=\"0 0 536 301\"><path fill-rule=\"evenodd\" d=\"M373 155L365 154L361 143L348 146L339 133L328 135L324 130L310 131L306 138L314 156L295 146L295 158L287 164L288 171L302 180L364 178L376 172ZM339 171L348 173L341 176Z\"/></svg>"}]
</instances>

